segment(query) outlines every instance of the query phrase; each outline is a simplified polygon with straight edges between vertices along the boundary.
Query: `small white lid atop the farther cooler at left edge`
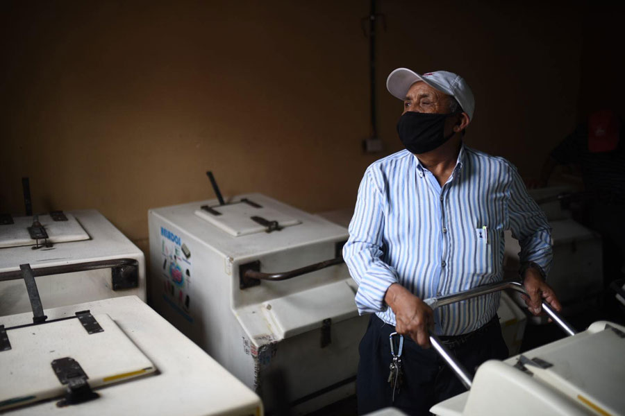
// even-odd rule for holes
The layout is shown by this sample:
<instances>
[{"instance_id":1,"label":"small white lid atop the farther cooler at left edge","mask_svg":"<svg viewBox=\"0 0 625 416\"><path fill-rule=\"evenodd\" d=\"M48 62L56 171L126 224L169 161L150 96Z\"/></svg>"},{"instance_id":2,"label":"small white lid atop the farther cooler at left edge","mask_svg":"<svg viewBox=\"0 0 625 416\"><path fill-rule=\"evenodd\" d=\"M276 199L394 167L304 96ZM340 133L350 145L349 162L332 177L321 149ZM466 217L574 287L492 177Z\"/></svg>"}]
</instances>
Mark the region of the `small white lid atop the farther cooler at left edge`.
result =
<instances>
[{"instance_id":1,"label":"small white lid atop the farther cooler at left edge","mask_svg":"<svg viewBox=\"0 0 625 416\"><path fill-rule=\"evenodd\" d=\"M67 221L55 221L50 214L39 216L39 222L46 229L50 243L69 243L90 239L83 226L72 214L65 214ZM0 225L0 248L35 245L36 241L28 234L28 227L33 225L32 216L14 217L13 223ZM42 244L43 241L39 240Z\"/></svg>"}]
</instances>

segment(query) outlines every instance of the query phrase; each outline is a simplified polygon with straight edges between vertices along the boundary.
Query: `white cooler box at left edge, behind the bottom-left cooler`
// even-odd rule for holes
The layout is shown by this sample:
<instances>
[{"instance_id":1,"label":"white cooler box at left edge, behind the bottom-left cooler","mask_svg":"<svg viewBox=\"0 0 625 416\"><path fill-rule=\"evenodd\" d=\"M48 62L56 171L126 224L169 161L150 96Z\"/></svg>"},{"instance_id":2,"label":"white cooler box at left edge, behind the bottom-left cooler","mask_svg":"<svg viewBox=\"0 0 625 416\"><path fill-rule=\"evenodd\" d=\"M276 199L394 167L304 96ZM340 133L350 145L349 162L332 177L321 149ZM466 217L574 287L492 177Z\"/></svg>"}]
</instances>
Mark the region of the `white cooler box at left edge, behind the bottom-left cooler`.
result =
<instances>
[{"instance_id":1,"label":"white cooler box at left edge, behind the bottom-left cooler","mask_svg":"<svg viewBox=\"0 0 625 416\"><path fill-rule=\"evenodd\" d=\"M26 263L48 308L127 295L145 301L144 255L102 214L56 211L36 219L0 218L0 316L31 310L19 268Z\"/></svg>"}]
</instances>

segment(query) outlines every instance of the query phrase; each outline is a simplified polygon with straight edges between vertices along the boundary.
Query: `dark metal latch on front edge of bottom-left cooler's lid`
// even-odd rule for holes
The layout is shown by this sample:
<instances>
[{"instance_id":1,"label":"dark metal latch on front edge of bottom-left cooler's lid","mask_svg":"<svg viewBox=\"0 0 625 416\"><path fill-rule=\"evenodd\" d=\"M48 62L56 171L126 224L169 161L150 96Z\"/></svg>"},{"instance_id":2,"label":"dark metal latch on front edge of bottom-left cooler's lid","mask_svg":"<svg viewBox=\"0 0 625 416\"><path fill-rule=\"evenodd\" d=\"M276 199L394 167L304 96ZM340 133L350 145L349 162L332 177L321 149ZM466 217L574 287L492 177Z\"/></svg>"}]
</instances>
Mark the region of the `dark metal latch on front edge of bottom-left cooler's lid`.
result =
<instances>
[{"instance_id":1,"label":"dark metal latch on front edge of bottom-left cooler's lid","mask_svg":"<svg viewBox=\"0 0 625 416\"><path fill-rule=\"evenodd\" d=\"M87 382L89 377L74 358L58 358L52 361L51 365L58 381L67 385L65 399L58 401L56 406L63 407L71 404L80 404L99 397L96 392L91 390L91 386Z\"/></svg>"}]
</instances>

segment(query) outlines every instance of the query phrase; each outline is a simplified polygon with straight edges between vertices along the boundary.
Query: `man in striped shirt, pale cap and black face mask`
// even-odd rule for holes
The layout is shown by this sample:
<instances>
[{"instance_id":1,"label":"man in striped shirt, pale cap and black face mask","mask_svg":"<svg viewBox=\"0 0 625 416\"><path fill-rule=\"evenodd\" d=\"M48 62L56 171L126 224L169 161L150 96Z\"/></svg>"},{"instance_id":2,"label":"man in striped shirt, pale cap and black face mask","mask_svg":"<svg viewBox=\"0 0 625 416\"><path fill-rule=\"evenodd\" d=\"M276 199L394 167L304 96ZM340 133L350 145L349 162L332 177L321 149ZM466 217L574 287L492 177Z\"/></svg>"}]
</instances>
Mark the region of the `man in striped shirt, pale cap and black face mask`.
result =
<instances>
[{"instance_id":1,"label":"man in striped shirt, pale cap and black face mask","mask_svg":"<svg viewBox=\"0 0 625 416\"><path fill-rule=\"evenodd\" d=\"M427 298L500 281L503 230L519 239L526 303L560 304L544 277L551 264L547 220L527 195L516 168L462 144L474 97L460 76L419 75L399 68L387 89L403 100L397 131L406 150L374 162L363 177L343 256L358 283L361 314L374 313L360 342L358 412L396 406L426 415L433 404L464 390L428 349L439 335L472 371L508 350L497 320L499 295L443 306ZM405 335L403 383L393 391L389 335Z\"/></svg>"}]
</instances>

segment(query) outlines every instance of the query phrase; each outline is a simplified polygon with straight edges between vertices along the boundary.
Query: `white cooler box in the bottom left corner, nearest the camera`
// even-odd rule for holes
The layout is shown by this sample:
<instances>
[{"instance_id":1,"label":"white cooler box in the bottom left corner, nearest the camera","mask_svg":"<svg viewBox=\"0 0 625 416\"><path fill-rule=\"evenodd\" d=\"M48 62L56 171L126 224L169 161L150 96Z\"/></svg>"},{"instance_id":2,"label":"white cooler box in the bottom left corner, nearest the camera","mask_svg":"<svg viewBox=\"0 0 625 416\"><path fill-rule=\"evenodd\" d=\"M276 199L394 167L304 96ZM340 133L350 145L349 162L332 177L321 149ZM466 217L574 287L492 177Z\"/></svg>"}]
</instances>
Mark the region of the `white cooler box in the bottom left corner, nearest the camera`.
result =
<instances>
[{"instance_id":1,"label":"white cooler box in the bottom left corner, nearest the camera","mask_svg":"<svg viewBox=\"0 0 625 416\"><path fill-rule=\"evenodd\" d=\"M258 396L136 296L45 313L40 324L0 317L3 415L263 414Z\"/></svg>"}]
</instances>

